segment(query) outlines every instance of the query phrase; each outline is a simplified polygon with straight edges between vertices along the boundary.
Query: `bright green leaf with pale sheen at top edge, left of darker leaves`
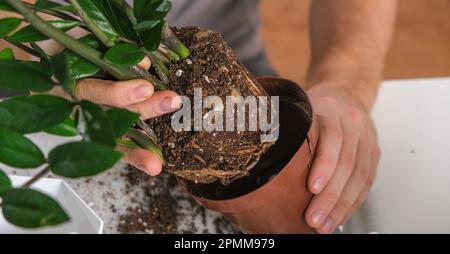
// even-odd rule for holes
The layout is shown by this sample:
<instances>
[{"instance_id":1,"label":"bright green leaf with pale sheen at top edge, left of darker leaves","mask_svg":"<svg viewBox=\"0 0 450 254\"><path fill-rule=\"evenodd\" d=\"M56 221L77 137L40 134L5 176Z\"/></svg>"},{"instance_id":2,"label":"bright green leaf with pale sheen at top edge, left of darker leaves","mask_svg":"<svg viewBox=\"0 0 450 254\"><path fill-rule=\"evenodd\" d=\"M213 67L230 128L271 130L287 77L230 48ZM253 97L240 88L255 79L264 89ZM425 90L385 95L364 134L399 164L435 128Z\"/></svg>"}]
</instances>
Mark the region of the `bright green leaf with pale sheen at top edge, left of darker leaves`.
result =
<instances>
[{"instance_id":1,"label":"bright green leaf with pale sheen at top edge, left of darker leaves","mask_svg":"<svg viewBox=\"0 0 450 254\"><path fill-rule=\"evenodd\" d=\"M88 23L88 26L90 24L95 25L95 27L106 35L110 41L114 42L117 39L118 34L106 17L105 6L102 1L103 0L76 0L79 6L75 5L75 7L82 19ZM93 32L95 33L95 31Z\"/></svg>"}]
</instances>

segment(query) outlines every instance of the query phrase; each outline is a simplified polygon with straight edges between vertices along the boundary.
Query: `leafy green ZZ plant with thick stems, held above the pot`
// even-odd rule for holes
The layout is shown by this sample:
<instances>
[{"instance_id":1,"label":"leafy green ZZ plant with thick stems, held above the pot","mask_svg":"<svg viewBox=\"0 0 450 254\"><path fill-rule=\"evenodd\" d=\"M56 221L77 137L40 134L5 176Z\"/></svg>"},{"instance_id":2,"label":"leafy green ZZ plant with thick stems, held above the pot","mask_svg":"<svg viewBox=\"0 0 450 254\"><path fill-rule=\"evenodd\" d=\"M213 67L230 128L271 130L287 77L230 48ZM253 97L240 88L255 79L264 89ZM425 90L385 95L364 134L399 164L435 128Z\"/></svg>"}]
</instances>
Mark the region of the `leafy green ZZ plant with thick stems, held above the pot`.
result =
<instances>
[{"instance_id":1,"label":"leafy green ZZ plant with thick stems, held above the pot","mask_svg":"<svg viewBox=\"0 0 450 254\"><path fill-rule=\"evenodd\" d=\"M104 172L122 157L114 149L117 144L143 147L162 158L151 129L139 115L79 101L74 91L77 80L88 77L144 78L157 89L165 89L167 64L190 54L165 20L170 9L167 0L135 0L133 6L124 0L70 0L64 4L37 0L34 5L0 0L0 10L14 14L0 19L0 39L37 59L19 61L11 49L0 51L0 90L22 94L0 102L0 163L40 169L20 187L13 187L0 170L0 206L6 220L24 228L68 221L69 215L54 199L30 186L49 172L68 178ZM44 21L39 13L58 19ZM26 25L18 29L23 23ZM74 28L84 29L88 35L75 39L65 33ZM49 39L65 50L47 54L37 42ZM137 66L146 56L152 61L151 71ZM55 86L63 88L70 99L45 93ZM38 132L80 136L81 140L45 155L26 137Z\"/></svg>"}]
</instances>

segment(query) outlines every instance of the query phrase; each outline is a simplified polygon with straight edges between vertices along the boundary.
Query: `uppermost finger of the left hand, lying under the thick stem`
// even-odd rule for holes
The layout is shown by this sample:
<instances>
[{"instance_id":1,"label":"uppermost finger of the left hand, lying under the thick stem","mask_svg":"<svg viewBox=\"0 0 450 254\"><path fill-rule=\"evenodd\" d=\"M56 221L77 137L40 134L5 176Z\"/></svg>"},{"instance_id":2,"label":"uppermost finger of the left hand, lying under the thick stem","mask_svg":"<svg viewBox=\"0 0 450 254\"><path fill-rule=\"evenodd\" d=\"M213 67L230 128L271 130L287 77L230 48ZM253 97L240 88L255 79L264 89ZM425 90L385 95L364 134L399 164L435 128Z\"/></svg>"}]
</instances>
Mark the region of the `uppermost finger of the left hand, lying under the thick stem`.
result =
<instances>
[{"instance_id":1,"label":"uppermost finger of the left hand, lying under the thick stem","mask_svg":"<svg viewBox=\"0 0 450 254\"><path fill-rule=\"evenodd\" d=\"M126 107L143 102L153 93L152 84L144 79L120 82L84 79L78 82L76 88L78 99L113 107Z\"/></svg>"}]
</instances>

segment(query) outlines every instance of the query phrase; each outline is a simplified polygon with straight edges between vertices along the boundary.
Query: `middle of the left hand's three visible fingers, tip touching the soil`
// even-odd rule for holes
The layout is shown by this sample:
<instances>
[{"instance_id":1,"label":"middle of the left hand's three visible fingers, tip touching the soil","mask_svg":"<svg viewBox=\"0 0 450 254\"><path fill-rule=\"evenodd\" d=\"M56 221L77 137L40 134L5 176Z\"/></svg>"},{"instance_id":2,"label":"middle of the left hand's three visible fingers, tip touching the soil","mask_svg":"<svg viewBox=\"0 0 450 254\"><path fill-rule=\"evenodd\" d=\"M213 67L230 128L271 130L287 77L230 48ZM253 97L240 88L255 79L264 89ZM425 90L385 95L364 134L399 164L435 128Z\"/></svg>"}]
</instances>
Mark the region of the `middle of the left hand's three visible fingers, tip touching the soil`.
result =
<instances>
[{"instance_id":1,"label":"middle of the left hand's three visible fingers, tip touching the soil","mask_svg":"<svg viewBox=\"0 0 450 254\"><path fill-rule=\"evenodd\" d=\"M181 97L173 91L156 92L148 100L131 105L128 109L138 112L141 119L149 119L178 110L182 105Z\"/></svg>"}]
</instances>

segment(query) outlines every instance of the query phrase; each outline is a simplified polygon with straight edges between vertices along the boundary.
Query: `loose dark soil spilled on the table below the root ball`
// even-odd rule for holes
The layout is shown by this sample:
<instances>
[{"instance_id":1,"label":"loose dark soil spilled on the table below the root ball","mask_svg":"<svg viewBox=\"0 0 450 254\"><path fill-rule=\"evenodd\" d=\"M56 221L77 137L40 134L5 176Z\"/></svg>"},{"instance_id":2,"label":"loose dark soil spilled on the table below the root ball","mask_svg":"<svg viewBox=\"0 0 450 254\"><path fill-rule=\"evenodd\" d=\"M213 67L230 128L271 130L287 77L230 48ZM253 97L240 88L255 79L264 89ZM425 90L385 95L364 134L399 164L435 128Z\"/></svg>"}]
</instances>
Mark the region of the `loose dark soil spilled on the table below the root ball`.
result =
<instances>
[{"instance_id":1,"label":"loose dark soil spilled on the table below the root ball","mask_svg":"<svg viewBox=\"0 0 450 254\"><path fill-rule=\"evenodd\" d=\"M180 203L188 202L193 208L195 217L199 218L203 225L207 224L205 208L198 205L189 196L173 195L173 190L179 188L174 176L164 174L157 179L150 178L134 167L129 167L124 174L127 181L126 189L132 190L137 186L144 188L144 199L133 200L136 204L128 207L124 214L119 215L118 232L122 234L177 234L177 233L201 233L203 229L198 228L194 219L184 220L186 214L180 209ZM125 190L127 192L127 190ZM115 212L114 207L110 209ZM208 232L216 233L240 233L225 218L214 219ZM206 231L203 233L207 233Z\"/></svg>"}]
</instances>

